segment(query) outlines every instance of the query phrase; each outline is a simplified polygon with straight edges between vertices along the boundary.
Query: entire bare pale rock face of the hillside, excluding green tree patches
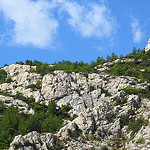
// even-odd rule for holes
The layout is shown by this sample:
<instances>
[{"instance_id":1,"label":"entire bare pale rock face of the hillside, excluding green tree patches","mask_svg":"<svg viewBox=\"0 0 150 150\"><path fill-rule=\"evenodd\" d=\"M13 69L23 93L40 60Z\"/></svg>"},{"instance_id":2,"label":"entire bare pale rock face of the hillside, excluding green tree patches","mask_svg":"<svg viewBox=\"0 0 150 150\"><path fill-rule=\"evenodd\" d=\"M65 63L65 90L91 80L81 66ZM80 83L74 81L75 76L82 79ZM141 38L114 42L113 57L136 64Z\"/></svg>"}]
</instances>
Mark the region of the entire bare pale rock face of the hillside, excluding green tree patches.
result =
<instances>
[{"instance_id":1,"label":"entire bare pale rock face of the hillside, excluding green tree patches","mask_svg":"<svg viewBox=\"0 0 150 150\"><path fill-rule=\"evenodd\" d=\"M109 69L117 61L133 60L115 60L104 64L101 69ZM19 64L4 67L12 82L0 84L1 93L7 93L7 96L0 95L0 100L7 107L13 104L19 112L34 114L27 103L14 98L17 92L21 92L25 97L33 96L36 102L46 105L52 100L59 106L70 103L72 109L69 113L78 117L56 135L35 131L25 136L18 135L10 144L10 150L150 149L150 100L123 91L127 87L149 90L149 83L106 73L84 75L54 71L41 76L31 73L32 68L35 67ZM32 88L39 83L41 88ZM125 117L144 118L147 124L132 137L130 126L122 123L121 118Z\"/></svg>"}]
</instances>

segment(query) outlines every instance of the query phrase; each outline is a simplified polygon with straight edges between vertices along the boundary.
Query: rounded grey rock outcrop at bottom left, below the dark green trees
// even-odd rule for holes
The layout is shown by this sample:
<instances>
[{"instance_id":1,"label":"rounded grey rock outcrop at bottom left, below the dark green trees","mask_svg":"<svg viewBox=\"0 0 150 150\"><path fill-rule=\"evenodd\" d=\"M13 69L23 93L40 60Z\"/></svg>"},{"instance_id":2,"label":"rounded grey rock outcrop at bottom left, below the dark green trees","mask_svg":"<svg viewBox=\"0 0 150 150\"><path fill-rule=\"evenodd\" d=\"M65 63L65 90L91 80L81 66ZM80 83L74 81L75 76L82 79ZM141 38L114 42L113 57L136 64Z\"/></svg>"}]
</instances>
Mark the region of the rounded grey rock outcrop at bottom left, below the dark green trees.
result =
<instances>
[{"instance_id":1,"label":"rounded grey rock outcrop at bottom left, below the dark green trees","mask_svg":"<svg viewBox=\"0 0 150 150\"><path fill-rule=\"evenodd\" d=\"M40 134L33 131L25 136L16 136L9 150L52 150L55 148L56 141L57 137L52 133Z\"/></svg>"}]
</instances>

